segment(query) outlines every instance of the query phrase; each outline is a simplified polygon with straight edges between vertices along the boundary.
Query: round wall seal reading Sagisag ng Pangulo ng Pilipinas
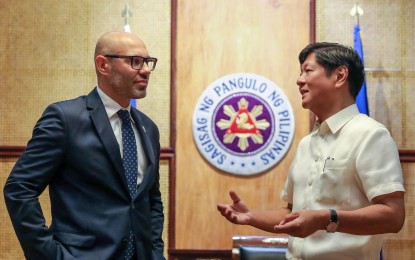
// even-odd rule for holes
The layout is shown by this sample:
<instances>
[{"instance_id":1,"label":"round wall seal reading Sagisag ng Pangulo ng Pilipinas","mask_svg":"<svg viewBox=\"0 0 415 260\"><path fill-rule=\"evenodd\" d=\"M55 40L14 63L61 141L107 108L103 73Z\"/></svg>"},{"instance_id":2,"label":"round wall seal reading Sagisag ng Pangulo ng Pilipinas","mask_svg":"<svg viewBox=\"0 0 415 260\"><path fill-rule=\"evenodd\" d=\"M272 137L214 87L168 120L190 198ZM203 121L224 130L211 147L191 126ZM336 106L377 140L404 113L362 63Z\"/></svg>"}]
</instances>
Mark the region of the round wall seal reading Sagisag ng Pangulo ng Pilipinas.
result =
<instances>
[{"instance_id":1,"label":"round wall seal reading Sagisag ng Pangulo ng Pilipinas","mask_svg":"<svg viewBox=\"0 0 415 260\"><path fill-rule=\"evenodd\" d=\"M199 97L193 138L216 168L254 175L276 165L294 136L294 114L284 92L272 81L250 73L226 75Z\"/></svg>"}]
</instances>

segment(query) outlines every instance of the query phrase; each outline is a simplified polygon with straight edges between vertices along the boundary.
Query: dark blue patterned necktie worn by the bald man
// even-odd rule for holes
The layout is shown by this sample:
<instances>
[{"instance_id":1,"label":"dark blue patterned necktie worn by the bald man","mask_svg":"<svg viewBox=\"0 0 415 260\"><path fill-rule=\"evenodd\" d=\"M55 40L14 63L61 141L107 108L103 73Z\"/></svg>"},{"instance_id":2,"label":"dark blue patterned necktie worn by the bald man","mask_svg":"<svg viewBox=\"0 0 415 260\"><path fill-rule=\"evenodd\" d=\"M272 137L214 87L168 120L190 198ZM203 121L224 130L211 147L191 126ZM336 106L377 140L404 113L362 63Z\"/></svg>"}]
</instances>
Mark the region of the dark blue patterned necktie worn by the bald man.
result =
<instances>
[{"instance_id":1,"label":"dark blue patterned necktie worn by the bald man","mask_svg":"<svg viewBox=\"0 0 415 260\"><path fill-rule=\"evenodd\" d=\"M134 198L137 192L137 144L135 142L134 131L131 126L130 113L127 110L120 110L117 112L118 116L122 120L121 133L122 133L122 147L123 147L123 165L125 171L125 177L127 178L128 191L131 198ZM128 239L127 250L125 259L131 259L134 255L134 234L130 231L130 237Z\"/></svg>"}]
</instances>

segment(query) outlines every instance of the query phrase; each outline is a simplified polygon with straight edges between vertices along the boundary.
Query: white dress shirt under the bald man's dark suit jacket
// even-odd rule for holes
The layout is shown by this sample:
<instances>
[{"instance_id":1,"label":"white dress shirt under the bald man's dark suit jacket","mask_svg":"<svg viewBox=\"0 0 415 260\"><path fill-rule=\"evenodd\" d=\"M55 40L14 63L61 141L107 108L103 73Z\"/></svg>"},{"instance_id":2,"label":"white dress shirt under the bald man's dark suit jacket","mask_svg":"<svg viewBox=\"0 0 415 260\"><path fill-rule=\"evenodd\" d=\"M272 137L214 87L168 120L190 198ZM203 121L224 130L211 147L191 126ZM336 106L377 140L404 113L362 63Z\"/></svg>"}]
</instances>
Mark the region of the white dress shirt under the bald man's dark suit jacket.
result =
<instances>
[{"instance_id":1,"label":"white dress shirt under the bald man's dark suit jacket","mask_svg":"<svg viewBox=\"0 0 415 260\"><path fill-rule=\"evenodd\" d=\"M123 156L123 146L122 146L122 134L121 134L121 125L122 121L121 118L118 116L117 112L120 109L128 110L130 112L131 105L126 108L121 107L117 102L115 102L112 98L106 95L99 87L97 87L98 94L104 104L105 111L107 112L108 118L110 120L110 124L112 130L114 131L115 138L117 139L118 145L120 147L121 156ZM148 166L148 160L143 149L143 144L140 139L140 135L137 130L137 125L135 124L133 118L130 119L133 126L133 131L135 135L135 141L137 144L137 157L138 157L138 176L137 176L137 185L140 184L144 177L145 169Z\"/></svg>"}]
</instances>

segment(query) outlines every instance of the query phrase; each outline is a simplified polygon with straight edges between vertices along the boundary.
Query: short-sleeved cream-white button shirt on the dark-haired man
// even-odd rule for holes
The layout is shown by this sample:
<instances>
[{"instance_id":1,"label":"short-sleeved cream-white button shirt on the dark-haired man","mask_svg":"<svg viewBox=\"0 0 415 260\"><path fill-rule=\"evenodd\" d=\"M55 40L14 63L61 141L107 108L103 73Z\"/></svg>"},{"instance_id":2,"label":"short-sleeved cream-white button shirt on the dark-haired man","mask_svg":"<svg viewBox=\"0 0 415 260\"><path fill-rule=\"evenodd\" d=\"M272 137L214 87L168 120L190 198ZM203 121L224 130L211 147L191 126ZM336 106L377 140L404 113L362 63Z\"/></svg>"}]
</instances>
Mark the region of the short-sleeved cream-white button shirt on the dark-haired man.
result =
<instances>
[{"instance_id":1,"label":"short-sleeved cream-white button shirt on the dark-haired man","mask_svg":"<svg viewBox=\"0 0 415 260\"><path fill-rule=\"evenodd\" d=\"M396 144L382 124L360 114L354 104L316 123L301 140L281 199L293 211L354 210L395 191L404 191ZM379 259L383 238L320 230L306 238L290 237L287 257Z\"/></svg>"}]
</instances>

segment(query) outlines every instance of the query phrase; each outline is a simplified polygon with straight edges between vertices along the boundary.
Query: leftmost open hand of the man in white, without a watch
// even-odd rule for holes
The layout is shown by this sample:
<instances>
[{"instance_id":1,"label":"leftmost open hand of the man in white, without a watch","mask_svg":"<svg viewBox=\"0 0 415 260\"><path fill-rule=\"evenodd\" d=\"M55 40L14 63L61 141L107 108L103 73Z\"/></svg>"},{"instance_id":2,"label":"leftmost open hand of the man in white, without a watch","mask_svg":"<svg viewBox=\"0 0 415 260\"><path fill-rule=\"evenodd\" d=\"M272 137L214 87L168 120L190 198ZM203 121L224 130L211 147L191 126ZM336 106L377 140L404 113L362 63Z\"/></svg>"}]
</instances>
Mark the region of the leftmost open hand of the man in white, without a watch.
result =
<instances>
[{"instance_id":1,"label":"leftmost open hand of the man in white, without a watch","mask_svg":"<svg viewBox=\"0 0 415 260\"><path fill-rule=\"evenodd\" d=\"M219 212L228 221L234 224L249 224L251 212L248 206L234 191L229 191L229 196L231 197L233 204L218 204L217 208Z\"/></svg>"}]
</instances>

